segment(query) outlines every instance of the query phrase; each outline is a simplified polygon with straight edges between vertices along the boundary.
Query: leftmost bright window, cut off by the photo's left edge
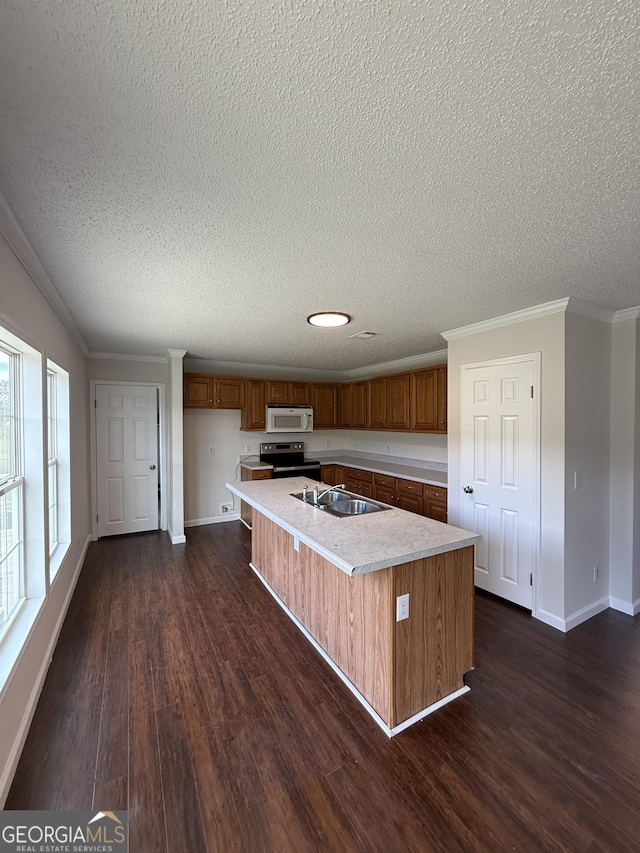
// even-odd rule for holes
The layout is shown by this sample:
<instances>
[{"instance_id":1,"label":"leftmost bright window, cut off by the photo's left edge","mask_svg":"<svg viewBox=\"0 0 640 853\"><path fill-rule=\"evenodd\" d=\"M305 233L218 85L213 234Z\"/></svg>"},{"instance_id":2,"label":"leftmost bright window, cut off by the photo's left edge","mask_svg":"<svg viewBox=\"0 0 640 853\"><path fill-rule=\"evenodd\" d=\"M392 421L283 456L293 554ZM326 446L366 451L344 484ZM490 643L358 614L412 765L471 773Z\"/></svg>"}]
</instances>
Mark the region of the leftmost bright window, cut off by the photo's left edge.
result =
<instances>
[{"instance_id":1,"label":"leftmost bright window, cut off by the photo's left edge","mask_svg":"<svg viewBox=\"0 0 640 853\"><path fill-rule=\"evenodd\" d=\"M20 356L0 347L0 638L25 600Z\"/></svg>"}]
</instances>

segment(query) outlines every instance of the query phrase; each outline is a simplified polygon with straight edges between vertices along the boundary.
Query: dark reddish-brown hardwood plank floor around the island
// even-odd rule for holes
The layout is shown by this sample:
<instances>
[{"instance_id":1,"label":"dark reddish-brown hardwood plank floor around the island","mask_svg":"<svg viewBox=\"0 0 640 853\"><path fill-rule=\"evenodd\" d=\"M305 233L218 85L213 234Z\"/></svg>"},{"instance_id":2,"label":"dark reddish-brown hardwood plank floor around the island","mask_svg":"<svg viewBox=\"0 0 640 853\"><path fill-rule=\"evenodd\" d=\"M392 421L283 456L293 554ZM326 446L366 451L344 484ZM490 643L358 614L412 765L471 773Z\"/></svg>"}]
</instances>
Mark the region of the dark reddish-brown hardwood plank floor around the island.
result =
<instances>
[{"instance_id":1,"label":"dark reddish-brown hardwood plank floor around the island","mask_svg":"<svg viewBox=\"0 0 640 853\"><path fill-rule=\"evenodd\" d=\"M389 740L239 522L87 555L8 809L127 809L132 853L640 851L640 619L481 594L471 691Z\"/></svg>"}]
</instances>

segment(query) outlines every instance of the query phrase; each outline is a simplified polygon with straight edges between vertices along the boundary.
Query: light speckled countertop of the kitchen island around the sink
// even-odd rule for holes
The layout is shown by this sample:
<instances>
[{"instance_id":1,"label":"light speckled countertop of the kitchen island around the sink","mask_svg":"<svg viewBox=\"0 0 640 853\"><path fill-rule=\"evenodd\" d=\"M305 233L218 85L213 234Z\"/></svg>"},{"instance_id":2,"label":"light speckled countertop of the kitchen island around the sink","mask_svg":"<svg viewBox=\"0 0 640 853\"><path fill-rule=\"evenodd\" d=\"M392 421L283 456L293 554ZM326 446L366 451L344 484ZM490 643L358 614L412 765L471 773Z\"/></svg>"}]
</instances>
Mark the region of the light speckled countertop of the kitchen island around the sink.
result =
<instances>
[{"instance_id":1,"label":"light speckled countertop of the kitchen island around the sink","mask_svg":"<svg viewBox=\"0 0 640 853\"><path fill-rule=\"evenodd\" d=\"M227 483L227 488L349 575L475 545L477 533L403 509L339 518L292 496L304 477ZM320 484L321 488L328 488Z\"/></svg>"}]
</instances>

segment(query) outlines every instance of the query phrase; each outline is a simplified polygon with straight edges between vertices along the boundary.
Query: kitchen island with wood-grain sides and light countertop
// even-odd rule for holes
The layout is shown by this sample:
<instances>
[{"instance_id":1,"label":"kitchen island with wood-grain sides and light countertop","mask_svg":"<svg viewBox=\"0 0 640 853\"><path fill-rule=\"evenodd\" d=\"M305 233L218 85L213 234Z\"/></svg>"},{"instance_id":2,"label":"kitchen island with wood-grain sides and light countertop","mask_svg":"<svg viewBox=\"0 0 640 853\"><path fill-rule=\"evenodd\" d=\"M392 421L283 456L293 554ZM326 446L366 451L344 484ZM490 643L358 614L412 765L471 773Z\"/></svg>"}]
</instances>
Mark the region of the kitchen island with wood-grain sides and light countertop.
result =
<instances>
[{"instance_id":1,"label":"kitchen island with wood-grain sides and light countertop","mask_svg":"<svg viewBox=\"0 0 640 853\"><path fill-rule=\"evenodd\" d=\"M396 508L338 518L293 497L305 484L227 483L252 508L251 568L392 736L468 690L480 536Z\"/></svg>"}]
</instances>

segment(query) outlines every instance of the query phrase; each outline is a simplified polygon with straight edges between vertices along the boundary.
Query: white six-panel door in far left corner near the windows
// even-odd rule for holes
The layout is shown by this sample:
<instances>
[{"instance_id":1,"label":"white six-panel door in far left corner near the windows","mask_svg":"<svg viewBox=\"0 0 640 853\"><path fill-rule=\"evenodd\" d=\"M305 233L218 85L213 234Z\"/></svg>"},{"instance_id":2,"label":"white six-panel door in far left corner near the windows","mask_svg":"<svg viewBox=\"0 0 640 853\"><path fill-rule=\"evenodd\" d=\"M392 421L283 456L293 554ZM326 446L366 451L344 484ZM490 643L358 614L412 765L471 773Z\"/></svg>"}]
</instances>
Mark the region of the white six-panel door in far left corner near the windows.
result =
<instances>
[{"instance_id":1,"label":"white six-panel door in far left corner near the windows","mask_svg":"<svg viewBox=\"0 0 640 853\"><path fill-rule=\"evenodd\" d=\"M158 392L96 385L98 536L159 528Z\"/></svg>"}]
</instances>

